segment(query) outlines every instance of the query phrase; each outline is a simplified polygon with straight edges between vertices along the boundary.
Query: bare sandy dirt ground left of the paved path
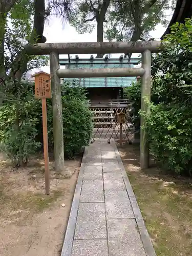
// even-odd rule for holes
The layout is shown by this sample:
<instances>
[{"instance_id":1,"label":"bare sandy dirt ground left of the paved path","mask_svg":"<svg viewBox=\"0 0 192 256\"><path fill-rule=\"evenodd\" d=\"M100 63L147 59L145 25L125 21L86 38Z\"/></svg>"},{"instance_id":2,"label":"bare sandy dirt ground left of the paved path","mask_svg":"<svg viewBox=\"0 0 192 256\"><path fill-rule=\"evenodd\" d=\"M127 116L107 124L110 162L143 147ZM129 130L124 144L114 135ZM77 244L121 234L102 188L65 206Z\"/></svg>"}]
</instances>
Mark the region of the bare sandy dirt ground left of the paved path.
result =
<instances>
[{"instance_id":1,"label":"bare sandy dirt ground left of the paved path","mask_svg":"<svg viewBox=\"0 0 192 256\"><path fill-rule=\"evenodd\" d=\"M60 255L81 156L66 160L71 178L56 176L50 161L51 194L45 195L44 162L10 168L0 159L0 255Z\"/></svg>"}]
</instances>

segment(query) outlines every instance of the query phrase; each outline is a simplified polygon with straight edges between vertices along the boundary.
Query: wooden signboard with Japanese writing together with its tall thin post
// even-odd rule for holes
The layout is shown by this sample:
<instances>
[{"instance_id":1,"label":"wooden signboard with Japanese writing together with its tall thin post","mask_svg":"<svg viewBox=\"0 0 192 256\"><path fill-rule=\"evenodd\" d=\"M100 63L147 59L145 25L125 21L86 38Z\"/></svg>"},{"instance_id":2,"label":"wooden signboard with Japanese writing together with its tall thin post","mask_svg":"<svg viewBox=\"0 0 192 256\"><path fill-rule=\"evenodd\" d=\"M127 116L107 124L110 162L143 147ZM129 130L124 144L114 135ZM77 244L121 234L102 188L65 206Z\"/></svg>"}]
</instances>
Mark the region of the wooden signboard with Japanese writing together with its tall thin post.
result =
<instances>
[{"instance_id":1,"label":"wooden signboard with Japanese writing together with its tall thin post","mask_svg":"<svg viewBox=\"0 0 192 256\"><path fill-rule=\"evenodd\" d=\"M46 98L51 98L50 74L38 72L31 77L35 77L35 97L41 99L42 103L42 132L44 137L44 161L45 161L45 187L46 195L50 194L49 175L49 151L48 151L48 131L47 131L47 106Z\"/></svg>"}]
</instances>

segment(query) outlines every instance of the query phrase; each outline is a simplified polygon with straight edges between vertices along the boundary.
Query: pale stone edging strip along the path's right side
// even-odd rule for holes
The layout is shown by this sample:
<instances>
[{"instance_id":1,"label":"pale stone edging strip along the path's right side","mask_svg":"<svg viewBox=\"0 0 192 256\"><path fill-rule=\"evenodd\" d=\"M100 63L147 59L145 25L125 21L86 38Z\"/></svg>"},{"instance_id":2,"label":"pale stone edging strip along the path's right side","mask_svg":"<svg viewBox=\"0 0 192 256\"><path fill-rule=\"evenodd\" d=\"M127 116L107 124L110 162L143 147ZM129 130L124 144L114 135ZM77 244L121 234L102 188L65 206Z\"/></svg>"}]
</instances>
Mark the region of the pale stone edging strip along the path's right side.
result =
<instances>
[{"instance_id":1,"label":"pale stone edging strip along the path's right side","mask_svg":"<svg viewBox=\"0 0 192 256\"><path fill-rule=\"evenodd\" d=\"M119 151L117 149L116 143L114 142L113 145L114 145L114 150L115 150L115 154L116 154L116 157L117 157L117 161L118 161L119 167L121 169L121 174L122 174L122 177L123 177L123 180L124 180L126 191L127 191L127 194L130 198L130 202L131 202L131 205L132 205L132 209L133 209L133 212L134 212L135 220L137 222L137 226L138 226L138 229L139 229L139 233L140 233L140 236L141 236L141 240L142 240L142 243L143 243L145 253L146 253L147 256L156 256L156 252L154 250L152 241L151 241L150 236L148 234L148 231L146 229L141 211L139 209L139 206L138 206L135 194L133 192L131 183L129 181L129 178L127 177L127 174L126 174L123 162L121 160Z\"/></svg>"}]
</instances>

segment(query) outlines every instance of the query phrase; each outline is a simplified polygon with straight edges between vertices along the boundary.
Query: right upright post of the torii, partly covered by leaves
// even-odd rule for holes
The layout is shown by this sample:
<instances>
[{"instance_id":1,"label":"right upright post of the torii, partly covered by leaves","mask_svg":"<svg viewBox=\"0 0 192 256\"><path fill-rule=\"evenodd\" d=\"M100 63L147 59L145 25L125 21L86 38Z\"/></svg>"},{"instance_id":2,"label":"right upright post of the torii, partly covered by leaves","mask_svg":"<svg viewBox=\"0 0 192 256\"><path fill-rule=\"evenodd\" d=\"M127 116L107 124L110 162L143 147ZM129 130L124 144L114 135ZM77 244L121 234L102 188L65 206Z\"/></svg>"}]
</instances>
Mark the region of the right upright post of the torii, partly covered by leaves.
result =
<instances>
[{"instance_id":1,"label":"right upright post of the torii, partly covered by leaves","mask_svg":"<svg viewBox=\"0 0 192 256\"><path fill-rule=\"evenodd\" d=\"M144 101L151 100L151 51L146 50L142 53L142 68L145 70L141 80L141 111L150 112L150 107ZM142 126L145 125L145 118L141 116L141 137L140 137L140 165L141 168L148 168L150 165L150 150L147 142L147 134Z\"/></svg>"}]
</instances>

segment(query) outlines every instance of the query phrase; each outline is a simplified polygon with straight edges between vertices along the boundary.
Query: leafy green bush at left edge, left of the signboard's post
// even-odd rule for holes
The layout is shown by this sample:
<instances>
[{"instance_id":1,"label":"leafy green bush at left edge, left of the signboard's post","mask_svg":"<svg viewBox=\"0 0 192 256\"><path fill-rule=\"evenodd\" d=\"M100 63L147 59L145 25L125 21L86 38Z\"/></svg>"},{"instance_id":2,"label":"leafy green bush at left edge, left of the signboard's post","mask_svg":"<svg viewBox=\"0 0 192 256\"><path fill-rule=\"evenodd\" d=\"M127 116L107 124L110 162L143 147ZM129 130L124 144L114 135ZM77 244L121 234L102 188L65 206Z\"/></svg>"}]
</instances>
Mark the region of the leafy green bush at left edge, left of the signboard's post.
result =
<instances>
[{"instance_id":1,"label":"leafy green bush at left edge, left of the signboard's post","mask_svg":"<svg viewBox=\"0 0 192 256\"><path fill-rule=\"evenodd\" d=\"M36 141L40 105L34 98L33 84L6 81L5 86L0 107L0 150L18 167L26 164L40 146Z\"/></svg>"}]
</instances>

